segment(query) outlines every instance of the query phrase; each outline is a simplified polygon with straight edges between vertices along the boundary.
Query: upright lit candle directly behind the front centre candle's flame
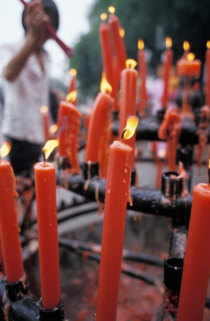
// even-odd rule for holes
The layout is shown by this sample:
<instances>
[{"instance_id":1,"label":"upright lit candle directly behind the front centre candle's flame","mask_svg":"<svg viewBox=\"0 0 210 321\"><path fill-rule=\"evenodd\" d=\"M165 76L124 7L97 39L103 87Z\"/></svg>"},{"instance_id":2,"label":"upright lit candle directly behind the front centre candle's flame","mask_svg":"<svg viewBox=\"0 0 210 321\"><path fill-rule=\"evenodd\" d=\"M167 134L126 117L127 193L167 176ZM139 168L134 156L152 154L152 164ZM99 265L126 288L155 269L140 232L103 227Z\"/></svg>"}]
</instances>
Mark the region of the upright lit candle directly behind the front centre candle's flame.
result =
<instances>
[{"instance_id":1,"label":"upright lit candle directly behind the front centre candle's flame","mask_svg":"<svg viewBox=\"0 0 210 321\"><path fill-rule=\"evenodd\" d=\"M135 70L137 65L136 61L133 59L128 59L126 61L126 69L121 73L120 80L120 133L126 126L127 118L130 115L136 115L136 86L138 72ZM134 134L128 141L127 144L133 149L132 158L132 169L134 168L135 160L135 140L136 135Z\"/></svg>"}]
</instances>

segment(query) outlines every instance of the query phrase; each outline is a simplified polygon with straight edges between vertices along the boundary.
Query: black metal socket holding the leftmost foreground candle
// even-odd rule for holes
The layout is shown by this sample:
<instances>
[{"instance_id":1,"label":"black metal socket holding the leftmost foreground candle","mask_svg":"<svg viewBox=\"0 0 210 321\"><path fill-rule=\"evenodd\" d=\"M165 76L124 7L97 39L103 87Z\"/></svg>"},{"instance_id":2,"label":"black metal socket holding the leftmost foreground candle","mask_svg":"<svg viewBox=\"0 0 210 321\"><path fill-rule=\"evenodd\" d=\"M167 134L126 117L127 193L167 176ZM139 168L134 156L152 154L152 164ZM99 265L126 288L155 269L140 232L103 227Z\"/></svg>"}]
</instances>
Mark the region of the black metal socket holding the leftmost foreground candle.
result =
<instances>
[{"instance_id":1,"label":"black metal socket holding the leftmost foreground candle","mask_svg":"<svg viewBox=\"0 0 210 321\"><path fill-rule=\"evenodd\" d=\"M28 293L28 282L26 276L16 283L8 283L5 278L6 295L10 301L17 301Z\"/></svg>"}]
</instances>

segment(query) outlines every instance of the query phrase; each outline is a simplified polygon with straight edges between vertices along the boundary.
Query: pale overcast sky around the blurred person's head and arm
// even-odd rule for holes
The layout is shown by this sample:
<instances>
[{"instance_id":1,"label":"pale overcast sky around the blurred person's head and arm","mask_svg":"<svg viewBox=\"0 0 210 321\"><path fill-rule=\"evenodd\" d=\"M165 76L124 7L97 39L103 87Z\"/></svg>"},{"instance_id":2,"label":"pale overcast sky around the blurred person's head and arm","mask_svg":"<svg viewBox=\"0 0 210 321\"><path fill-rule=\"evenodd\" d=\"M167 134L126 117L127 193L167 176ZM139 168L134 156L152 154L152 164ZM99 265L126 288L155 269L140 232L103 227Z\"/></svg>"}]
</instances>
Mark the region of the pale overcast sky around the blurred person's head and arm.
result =
<instances>
[{"instance_id":1,"label":"pale overcast sky around the blurred person's head and arm","mask_svg":"<svg viewBox=\"0 0 210 321\"><path fill-rule=\"evenodd\" d=\"M59 9L59 37L72 47L80 34L89 30L87 13L95 0L54 0ZM5 43L15 43L23 37L21 16L23 4L19 0L0 0L0 46ZM68 72L63 74L67 59L62 49L54 40L48 40L45 48L51 55L51 75L68 79ZM0 61L1 64L1 61ZM64 78L64 79L63 79Z\"/></svg>"}]
</instances>

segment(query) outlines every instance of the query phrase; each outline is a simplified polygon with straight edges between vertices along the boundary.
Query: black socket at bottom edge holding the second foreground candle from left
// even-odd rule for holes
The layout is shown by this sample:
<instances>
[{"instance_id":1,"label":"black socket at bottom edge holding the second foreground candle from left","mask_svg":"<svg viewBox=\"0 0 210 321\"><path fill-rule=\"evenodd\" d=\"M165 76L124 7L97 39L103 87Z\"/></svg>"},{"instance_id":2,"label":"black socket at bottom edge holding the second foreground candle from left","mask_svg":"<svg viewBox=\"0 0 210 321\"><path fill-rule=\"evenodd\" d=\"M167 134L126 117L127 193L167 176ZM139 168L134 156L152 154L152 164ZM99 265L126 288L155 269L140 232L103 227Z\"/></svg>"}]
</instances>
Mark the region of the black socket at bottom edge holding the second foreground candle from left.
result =
<instances>
[{"instance_id":1,"label":"black socket at bottom edge holding the second foreground candle from left","mask_svg":"<svg viewBox=\"0 0 210 321\"><path fill-rule=\"evenodd\" d=\"M45 310L41 306L41 299L39 300L39 315L40 321L64 321L64 305L63 298L60 297L60 304L53 310Z\"/></svg>"}]
</instances>

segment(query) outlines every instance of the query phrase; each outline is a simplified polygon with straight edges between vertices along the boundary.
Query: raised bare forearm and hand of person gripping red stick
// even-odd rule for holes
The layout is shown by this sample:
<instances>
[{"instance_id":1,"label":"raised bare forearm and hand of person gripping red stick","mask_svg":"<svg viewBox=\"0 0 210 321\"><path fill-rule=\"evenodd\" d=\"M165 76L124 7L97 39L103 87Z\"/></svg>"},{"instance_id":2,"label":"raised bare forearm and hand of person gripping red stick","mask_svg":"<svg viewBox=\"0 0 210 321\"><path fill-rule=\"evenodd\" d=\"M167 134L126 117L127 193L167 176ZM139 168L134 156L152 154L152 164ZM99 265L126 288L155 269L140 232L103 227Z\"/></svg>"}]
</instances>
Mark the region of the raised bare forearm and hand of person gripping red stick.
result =
<instances>
[{"instance_id":1,"label":"raised bare forearm and hand of person gripping red stick","mask_svg":"<svg viewBox=\"0 0 210 321\"><path fill-rule=\"evenodd\" d=\"M26 42L5 67L3 77L6 80L13 81L23 69L32 52L44 44L48 37L46 23L49 21L50 18L44 13L40 0L32 0L25 15Z\"/></svg>"}]
</instances>

